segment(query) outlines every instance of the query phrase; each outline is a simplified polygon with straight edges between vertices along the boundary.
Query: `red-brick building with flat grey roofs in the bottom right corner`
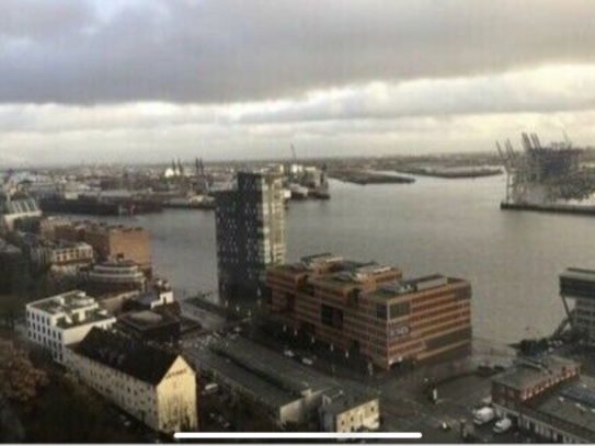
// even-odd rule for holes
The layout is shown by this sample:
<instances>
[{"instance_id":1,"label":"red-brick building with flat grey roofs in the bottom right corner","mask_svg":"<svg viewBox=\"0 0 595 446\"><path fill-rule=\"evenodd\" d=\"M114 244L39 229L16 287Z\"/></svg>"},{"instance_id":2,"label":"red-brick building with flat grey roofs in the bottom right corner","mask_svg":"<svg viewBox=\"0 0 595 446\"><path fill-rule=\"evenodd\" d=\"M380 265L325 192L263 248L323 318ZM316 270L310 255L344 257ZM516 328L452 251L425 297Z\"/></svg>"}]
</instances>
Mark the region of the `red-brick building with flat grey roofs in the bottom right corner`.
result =
<instances>
[{"instance_id":1,"label":"red-brick building with flat grey roofs in the bottom right corner","mask_svg":"<svg viewBox=\"0 0 595 446\"><path fill-rule=\"evenodd\" d=\"M595 379L559 356L523 359L492 379L499 416L548 443L595 443Z\"/></svg>"}]
</instances>

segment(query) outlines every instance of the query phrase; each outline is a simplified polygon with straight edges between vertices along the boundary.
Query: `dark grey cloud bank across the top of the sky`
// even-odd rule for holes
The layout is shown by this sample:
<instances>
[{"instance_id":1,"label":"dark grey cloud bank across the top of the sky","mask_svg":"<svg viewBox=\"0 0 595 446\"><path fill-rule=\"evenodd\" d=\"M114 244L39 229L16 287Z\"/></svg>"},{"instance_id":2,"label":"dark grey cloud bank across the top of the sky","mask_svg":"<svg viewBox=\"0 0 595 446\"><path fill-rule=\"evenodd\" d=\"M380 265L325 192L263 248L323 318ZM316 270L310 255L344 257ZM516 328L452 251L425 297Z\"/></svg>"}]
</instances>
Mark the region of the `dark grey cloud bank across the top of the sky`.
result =
<instances>
[{"instance_id":1,"label":"dark grey cloud bank across the top of the sky","mask_svg":"<svg viewBox=\"0 0 595 446\"><path fill-rule=\"evenodd\" d=\"M0 102L229 103L592 62L588 0L0 2Z\"/></svg>"}]
</instances>

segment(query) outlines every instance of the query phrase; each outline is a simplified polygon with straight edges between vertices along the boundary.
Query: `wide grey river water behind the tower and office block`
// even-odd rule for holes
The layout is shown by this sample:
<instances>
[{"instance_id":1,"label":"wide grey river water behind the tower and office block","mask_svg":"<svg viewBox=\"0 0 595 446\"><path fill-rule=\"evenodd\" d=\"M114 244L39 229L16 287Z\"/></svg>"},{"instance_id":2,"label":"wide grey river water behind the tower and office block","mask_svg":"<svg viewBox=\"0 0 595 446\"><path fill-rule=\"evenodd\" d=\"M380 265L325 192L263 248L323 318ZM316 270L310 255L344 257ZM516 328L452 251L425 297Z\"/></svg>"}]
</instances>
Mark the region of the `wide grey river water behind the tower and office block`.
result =
<instances>
[{"instance_id":1,"label":"wide grey river water behind the tower and office block","mask_svg":"<svg viewBox=\"0 0 595 446\"><path fill-rule=\"evenodd\" d=\"M568 266L595 267L595 219L500 210L504 181L333 181L330 201L290 204L289 260L329 251L398 265L405 276L464 277L473 287L477 336L511 343L548 334L563 318L558 274ZM149 229L156 268L180 293L216 289L213 211L117 220Z\"/></svg>"}]
</instances>

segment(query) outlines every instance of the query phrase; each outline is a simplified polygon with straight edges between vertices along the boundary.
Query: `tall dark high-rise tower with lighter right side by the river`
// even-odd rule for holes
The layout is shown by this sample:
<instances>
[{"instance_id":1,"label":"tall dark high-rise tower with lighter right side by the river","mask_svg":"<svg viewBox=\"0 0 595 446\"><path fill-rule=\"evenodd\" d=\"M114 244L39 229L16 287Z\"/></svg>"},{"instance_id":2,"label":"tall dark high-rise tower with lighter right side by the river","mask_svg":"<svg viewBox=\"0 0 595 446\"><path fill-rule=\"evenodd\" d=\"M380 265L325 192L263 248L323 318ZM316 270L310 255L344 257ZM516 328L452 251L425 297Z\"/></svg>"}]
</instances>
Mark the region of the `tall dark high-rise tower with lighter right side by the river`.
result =
<instances>
[{"instance_id":1,"label":"tall dark high-rise tower with lighter right side by the river","mask_svg":"<svg viewBox=\"0 0 595 446\"><path fill-rule=\"evenodd\" d=\"M215 219L219 295L258 298L266 268L285 262L283 178L238 173L237 188L217 194Z\"/></svg>"}]
</instances>

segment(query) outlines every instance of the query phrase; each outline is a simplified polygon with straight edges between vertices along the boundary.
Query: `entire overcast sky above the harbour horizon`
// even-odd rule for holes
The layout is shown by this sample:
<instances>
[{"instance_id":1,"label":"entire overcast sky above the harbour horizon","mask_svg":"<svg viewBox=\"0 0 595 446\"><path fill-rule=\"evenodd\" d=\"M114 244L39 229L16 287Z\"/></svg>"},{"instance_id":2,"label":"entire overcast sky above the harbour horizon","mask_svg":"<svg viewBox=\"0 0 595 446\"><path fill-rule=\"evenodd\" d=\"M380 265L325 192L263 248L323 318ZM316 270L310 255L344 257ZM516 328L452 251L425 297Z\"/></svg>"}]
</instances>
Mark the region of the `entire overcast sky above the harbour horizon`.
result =
<instances>
[{"instance_id":1,"label":"entire overcast sky above the harbour horizon","mask_svg":"<svg viewBox=\"0 0 595 446\"><path fill-rule=\"evenodd\" d=\"M0 0L0 168L595 145L595 1Z\"/></svg>"}]
</instances>

